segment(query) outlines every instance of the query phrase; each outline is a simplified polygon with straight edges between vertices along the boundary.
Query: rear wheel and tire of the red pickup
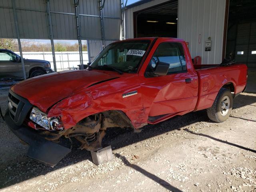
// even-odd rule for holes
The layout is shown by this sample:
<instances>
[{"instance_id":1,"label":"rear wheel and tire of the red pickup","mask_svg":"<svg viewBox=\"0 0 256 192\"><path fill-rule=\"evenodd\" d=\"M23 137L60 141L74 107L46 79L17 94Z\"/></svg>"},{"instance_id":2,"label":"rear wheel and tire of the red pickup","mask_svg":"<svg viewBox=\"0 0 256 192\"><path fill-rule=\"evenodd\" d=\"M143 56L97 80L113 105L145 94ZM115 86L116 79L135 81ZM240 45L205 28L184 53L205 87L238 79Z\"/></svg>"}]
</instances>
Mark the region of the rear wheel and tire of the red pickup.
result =
<instances>
[{"instance_id":1,"label":"rear wheel and tire of the red pickup","mask_svg":"<svg viewBox=\"0 0 256 192\"><path fill-rule=\"evenodd\" d=\"M210 120L224 122L230 116L233 107L233 97L229 89L221 88L212 107L207 109Z\"/></svg>"}]
</instances>

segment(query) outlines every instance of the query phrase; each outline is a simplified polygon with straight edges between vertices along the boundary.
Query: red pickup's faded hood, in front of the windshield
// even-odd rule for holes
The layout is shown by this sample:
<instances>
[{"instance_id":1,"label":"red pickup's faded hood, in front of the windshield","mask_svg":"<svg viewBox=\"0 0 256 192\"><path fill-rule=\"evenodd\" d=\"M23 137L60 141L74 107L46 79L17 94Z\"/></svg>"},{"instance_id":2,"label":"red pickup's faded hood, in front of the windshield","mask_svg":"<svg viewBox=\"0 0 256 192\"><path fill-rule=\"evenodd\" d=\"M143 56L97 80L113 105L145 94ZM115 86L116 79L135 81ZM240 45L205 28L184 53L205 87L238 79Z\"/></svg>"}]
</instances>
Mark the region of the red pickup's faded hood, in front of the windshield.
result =
<instances>
[{"instance_id":1,"label":"red pickup's faded hood, in front of the windshield","mask_svg":"<svg viewBox=\"0 0 256 192\"><path fill-rule=\"evenodd\" d=\"M52 105L82 88L117 77L94 70L62 71L19 82L11 90L46 112Z\"/></svg>"}]
</instances>

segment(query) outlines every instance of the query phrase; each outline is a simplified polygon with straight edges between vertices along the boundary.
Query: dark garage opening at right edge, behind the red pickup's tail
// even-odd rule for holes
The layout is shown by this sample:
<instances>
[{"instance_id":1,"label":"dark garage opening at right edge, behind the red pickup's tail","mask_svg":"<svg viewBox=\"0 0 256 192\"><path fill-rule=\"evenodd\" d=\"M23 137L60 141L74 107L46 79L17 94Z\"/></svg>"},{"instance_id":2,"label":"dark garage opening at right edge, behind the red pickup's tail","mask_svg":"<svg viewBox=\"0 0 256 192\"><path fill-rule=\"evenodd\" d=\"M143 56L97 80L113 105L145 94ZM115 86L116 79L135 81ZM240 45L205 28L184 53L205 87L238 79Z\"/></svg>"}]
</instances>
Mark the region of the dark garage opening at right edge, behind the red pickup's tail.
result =
<instances>
[{"instance_id":1,"label":"dark garage opening at right edge, behind the red pickup's tail","mask_svg":"<svg viewBox=\"0 0 256 192\"><path fill-rule=\"evenodd\" d=\"M256 1L230 0L226 58L248 66L247 91L256 92Z\"/></svg>"}]
</instances>

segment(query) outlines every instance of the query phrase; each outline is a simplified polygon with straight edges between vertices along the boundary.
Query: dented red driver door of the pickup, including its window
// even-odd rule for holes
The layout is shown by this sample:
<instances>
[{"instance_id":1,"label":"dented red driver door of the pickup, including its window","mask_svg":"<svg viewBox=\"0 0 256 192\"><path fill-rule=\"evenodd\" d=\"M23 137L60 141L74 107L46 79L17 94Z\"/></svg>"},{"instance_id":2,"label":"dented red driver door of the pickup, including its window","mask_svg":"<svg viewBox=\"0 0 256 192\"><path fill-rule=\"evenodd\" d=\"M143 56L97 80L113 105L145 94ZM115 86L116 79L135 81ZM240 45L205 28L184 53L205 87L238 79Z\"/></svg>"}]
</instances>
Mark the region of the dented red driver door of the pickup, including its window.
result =
<instances>
[{"instance_id":1,"label":"dented red driver door of the pickup, including its window","mask_svg":"<svg viewBox=\"0 0 256 192\"><path fill-rule=\"evenodd\" d=\"M198 76L188 67L182 42L158 44L142 81L143 106L150 117L194 110L198 98ZM158 62L169 64L165 76L154 75Z\"/></svg>"}]
</instances>

